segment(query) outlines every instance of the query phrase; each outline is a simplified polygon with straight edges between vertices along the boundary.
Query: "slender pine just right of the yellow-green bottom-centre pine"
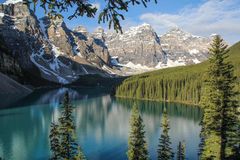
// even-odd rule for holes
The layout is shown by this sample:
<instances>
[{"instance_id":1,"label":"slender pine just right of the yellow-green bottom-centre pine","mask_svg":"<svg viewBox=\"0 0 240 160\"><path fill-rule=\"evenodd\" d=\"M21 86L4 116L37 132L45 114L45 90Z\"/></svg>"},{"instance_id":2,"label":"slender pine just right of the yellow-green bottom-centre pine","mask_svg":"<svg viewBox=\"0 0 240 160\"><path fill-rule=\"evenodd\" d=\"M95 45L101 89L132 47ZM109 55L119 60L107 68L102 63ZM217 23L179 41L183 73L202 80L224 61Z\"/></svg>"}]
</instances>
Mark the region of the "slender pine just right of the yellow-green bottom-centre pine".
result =
<instances>
[{"instance_id":1,"label":"slender pine just right of the yellow-green bottom-centre pine","mask_svg":"<svg viewBox=\"0 0 240 160\"><path fill-rule=\"evenodd\" d=\"M174 153L171 148L171 141L169 137L169 120L167 117L166 109L164 108L162 122L162 134L159 139L159 145L158 145L158 160L171 160L174 157Z\"/></svg>"}]
</instances>

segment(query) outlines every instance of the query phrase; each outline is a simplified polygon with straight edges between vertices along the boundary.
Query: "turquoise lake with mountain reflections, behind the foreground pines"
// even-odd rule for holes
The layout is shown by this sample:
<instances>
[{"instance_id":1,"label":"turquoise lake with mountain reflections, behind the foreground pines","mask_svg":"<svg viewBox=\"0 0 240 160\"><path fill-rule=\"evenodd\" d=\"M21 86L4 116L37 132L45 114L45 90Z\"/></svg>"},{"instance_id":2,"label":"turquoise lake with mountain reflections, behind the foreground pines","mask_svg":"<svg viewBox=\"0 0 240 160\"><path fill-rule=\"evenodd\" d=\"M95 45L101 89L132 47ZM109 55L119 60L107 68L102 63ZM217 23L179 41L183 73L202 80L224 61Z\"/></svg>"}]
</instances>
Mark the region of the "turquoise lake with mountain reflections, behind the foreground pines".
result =
<instances>
[{"instance_id":1,"label":"turquoise lake with mountain reflections, behind the foreground pines","mask_svg":"<svg viewBox=\"0 0 240 160\"><path fill-rule=\"evenodd\" d=\"M77 138L89 160L125 160L131 107L136 103L145 124L151 159L157 158L163 108L170 120L172 148L186 143L186 157L197 159L202 112L197 107L118 99L101 88L38 90L24 99L8 102L0 110L0 157L6 160L49 159L49 131L61 112L60 102L68 91L74 106ZM4 98L1 98L1 103Z\"/></svg>"}]
</instances>

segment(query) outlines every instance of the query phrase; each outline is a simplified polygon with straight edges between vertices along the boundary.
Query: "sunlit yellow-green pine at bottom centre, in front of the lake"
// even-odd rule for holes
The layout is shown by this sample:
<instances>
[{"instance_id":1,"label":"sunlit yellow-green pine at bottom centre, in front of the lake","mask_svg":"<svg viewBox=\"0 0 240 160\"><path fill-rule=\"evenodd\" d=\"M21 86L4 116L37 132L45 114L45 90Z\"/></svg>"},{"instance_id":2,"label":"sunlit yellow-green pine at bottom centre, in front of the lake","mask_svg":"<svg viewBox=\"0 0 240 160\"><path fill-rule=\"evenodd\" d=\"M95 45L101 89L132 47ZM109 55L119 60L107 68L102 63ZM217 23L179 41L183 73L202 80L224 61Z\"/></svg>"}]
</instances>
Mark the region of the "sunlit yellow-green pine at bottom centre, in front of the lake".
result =
<instances>
[{"instance_id":1,"label":"sunlit yellow-green pine at bottom centre, in front of the lake","mask_svg":"<svg viewBox=\"0 0 240 160\"><path fill-rule=\"evenodd\" d=\"M133 106L130 119L130 135L127 156L129 160L147 160L148 151L145 141L143 120L136 105Z\"/></svg>"}]
</instances>

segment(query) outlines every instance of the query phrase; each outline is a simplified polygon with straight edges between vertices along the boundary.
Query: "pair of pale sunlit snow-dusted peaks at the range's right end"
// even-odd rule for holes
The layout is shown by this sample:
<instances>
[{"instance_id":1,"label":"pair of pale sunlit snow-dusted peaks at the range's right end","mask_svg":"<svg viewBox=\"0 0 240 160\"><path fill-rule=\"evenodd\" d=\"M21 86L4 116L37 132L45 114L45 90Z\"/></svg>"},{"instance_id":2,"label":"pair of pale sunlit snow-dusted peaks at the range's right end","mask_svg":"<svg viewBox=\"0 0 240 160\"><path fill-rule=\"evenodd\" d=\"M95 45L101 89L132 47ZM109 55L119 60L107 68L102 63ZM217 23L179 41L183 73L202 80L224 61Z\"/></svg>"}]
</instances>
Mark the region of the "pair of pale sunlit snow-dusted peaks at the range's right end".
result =
<instances>
[{"instance_id":1,"label":"pair of pale sunlit snow-dusted peaks at the range's right end","mask_svg":"<svg viewBox=\"0 0 240 160\"><path fill-rule=\"evenodd\" d=\"M211 38L194 36L179 28L158 36L149 24L104 36L113 65L135 72L203 62L208 58L211 42Z\"/></svg>"}]
</instances>

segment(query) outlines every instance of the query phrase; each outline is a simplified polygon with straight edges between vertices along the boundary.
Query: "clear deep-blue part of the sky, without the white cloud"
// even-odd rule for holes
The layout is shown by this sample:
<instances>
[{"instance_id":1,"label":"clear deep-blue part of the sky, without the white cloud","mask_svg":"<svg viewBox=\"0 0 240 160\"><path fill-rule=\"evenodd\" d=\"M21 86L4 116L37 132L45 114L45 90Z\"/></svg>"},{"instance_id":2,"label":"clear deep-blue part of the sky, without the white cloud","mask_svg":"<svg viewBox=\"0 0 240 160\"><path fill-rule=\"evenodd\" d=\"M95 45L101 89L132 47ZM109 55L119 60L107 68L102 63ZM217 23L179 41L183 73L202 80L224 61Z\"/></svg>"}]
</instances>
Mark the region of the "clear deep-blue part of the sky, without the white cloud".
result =
<instances>
[{"instance_id":1,"label":"clear deep-blue part of the sky, without the white cloud","mask_svg":"<svg viewBox=\"0 0 240 160\"><path fill-rule=\"evenodd\" d=\"M181 2L180 2L181 1ZM125 28L132 26L132 25L139 25L142 24L144 21L140 19L140 15L143 15L145 13L172 13L176 14L178 10L181 10L184 6L189 5L199 5L201 4L202 0L158 0L158 3L156 4L154 0L152 2L148 3L148 7L145 8L142 5L138 6L131 6L129 12L125 14L126 20L122 22L123 26ZM105 0L90 0L90 3L96 5L99 8L99 11L101 11L105 6ZM68 20L67 17L73 13L74 9L70 9L68 13L63 13L63 16L65 17L65 22L70 28L74 28L78 25L87 26L88 30L93 31L97 26L102 26L107 29L107 25L105 24L98 24L97 23L97 15L96 18L87 18L87 17L79 17L74 18L72 20ZM44 16L43 10L38 9L37 10L38 17Z\"/></svg>"}]
</instances>

